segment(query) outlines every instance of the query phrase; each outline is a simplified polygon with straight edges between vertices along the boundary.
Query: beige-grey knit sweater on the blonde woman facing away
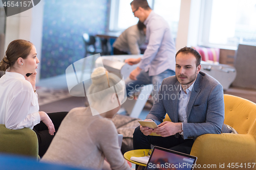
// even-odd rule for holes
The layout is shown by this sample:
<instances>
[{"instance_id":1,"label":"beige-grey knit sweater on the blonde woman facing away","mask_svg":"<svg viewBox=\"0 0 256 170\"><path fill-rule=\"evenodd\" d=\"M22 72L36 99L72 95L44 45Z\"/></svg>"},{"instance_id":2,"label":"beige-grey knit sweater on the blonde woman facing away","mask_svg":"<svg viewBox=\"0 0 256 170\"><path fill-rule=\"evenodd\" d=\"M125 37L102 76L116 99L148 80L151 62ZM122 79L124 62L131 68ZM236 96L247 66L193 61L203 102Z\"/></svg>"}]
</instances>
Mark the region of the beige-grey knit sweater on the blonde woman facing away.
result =
<instances>
[{"instance_id":1,"label":"beige-grey knit sweater on the blonde woman facing away","mask_svg":"<svg viewBox=\"0 0 256 170\"><path fill-rule=\"evenodd\" d=\"M104 158L112 169L131 169L121 154L113 122L79 107L62 120L41 161L102 169Z\"/></svg>"}]
</instances>

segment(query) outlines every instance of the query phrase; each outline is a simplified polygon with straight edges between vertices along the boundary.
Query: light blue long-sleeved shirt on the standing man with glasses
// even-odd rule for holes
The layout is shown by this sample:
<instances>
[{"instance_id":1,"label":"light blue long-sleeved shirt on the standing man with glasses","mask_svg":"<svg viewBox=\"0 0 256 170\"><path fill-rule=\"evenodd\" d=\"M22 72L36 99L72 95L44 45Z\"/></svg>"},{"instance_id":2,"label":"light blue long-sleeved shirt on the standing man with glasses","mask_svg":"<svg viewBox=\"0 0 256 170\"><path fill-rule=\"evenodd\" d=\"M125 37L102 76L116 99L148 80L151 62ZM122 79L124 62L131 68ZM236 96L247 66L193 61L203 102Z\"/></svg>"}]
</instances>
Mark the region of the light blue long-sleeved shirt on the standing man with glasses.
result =
<instances>
[{"instance_id":1,"label":"light blue long-sleeved shirt on the standing man with glasses","mask_svg":"<svg viewBox=\"0 0 256 170\"><path fill-rule=\"evenodd\" d=\"M176 48L167 21L151 11L144 25L148 45L138 66L149 71L149 76L159 75L167 69L175 71Z\"/></svg>"}]
</instances>

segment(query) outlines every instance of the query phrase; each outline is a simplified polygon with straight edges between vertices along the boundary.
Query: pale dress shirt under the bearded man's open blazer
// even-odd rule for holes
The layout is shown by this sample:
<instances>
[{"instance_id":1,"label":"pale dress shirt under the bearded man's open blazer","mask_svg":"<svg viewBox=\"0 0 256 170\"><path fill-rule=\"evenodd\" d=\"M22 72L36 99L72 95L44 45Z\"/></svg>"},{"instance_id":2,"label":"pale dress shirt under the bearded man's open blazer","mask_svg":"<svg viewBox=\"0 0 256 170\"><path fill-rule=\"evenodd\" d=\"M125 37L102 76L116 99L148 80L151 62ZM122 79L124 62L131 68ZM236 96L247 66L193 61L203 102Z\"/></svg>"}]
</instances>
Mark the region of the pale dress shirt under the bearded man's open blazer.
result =
<instances>
[{"instance_id":1,"label":"pale dress shirt under the bearded man's open blazer","mask_svg":"<svg viewBox=\"0 0 256 170\"><path fill-rule=\"evenodd\" d=\"M191 91L194 87L195 82L186 89L186 93L183 91L182 86L180 85L180 96L179 96L179 105L178 105L178 117L179 122L182 123L183 130L183 122L187 123L187 104L191 95ZM183 132L180 133L183 135Z\"/></svg>"}]
</instances>

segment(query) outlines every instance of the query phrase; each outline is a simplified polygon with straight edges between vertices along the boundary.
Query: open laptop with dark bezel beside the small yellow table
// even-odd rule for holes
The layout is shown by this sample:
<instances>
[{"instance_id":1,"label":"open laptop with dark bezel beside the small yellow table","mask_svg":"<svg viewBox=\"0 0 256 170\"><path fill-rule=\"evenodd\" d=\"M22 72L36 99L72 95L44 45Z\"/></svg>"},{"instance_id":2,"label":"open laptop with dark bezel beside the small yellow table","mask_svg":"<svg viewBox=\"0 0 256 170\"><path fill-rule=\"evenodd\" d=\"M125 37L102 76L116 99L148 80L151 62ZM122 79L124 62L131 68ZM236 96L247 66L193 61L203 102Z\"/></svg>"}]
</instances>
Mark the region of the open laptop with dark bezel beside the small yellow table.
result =
<instances>
[{"instance_id":1,"label":"open laptop with dark bezel beside the small yellow table","mask_svg":"<svg viewBox=\"0 0 256 170\"><path fill-rule=\"evenodd\" d=\"M146 170L152 169L194 169L197 157L180 152L154 147Z\"/></svg>"}]
</instances>

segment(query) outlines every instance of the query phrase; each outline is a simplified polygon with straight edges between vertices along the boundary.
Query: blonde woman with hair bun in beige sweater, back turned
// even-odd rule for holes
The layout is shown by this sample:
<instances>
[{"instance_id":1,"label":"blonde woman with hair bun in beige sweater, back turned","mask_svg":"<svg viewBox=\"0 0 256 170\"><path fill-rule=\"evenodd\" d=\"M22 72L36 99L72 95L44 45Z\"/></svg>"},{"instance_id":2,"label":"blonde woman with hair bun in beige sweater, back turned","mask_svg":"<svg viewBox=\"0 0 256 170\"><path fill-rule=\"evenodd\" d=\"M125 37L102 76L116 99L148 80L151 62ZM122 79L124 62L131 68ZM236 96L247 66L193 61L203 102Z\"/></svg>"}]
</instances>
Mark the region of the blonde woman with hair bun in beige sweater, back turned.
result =
<instances>
[{"instance_id":1,"label":"blonde woman with hair bun in beige sweater, back turned","mask_svg":"<svg viewBox=\"0 0 256 170\"><path fill-rule=\"evenodd\" d=\"M93 169L131 169L121 154L118 133L110 119L124 100L125 84L103 67L96 68L91 78L91 85L85 85L89 87L90 106L74 108L67 114L41 161Z\"/></svg>"}]
</instances>

